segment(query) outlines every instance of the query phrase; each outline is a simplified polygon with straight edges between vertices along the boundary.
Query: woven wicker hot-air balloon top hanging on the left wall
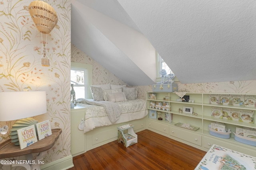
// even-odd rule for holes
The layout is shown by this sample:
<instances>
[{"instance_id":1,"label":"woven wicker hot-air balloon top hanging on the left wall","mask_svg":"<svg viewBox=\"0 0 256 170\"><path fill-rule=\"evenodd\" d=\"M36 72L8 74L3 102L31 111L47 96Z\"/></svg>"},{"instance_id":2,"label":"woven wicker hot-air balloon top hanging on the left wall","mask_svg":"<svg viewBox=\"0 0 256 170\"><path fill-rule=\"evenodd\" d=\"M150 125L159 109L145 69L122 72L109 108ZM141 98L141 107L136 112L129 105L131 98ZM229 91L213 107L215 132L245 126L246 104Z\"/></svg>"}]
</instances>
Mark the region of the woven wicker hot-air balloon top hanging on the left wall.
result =
<instances>
[{"instance_id":1,"label":"woven wicker hot-air balloon top hanging on the left wall","mask_svg":"<svg viewBox=\"0 0 256 170\"><path fill-rule=\"evenodd\" d=\"M30 3L29 13L41 33L50 33L58 22L58 16L54 8L40 0Z\"/></svg>"}]
</instances>

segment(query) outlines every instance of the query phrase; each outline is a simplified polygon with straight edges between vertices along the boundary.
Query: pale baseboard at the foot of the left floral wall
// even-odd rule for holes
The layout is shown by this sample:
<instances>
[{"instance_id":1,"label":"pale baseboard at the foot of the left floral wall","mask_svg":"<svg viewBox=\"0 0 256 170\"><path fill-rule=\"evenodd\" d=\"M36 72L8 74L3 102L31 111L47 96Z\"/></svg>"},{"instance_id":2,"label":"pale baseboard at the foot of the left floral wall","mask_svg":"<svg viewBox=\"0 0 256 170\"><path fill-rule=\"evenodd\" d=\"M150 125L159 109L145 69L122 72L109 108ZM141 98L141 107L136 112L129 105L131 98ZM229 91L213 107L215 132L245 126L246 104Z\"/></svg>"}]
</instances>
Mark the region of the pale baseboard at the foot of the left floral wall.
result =
<instances>
[{"instance_id":1,"label":"pale baseboard at the foot of the left floral wall","mask_svg":"<svg viewBox=\"0 0 256 170\"><path fill-rule=\"evenodd\" d=\"M67 170L72 168L73 164L73 157L72 155L68 155L64 158L60 158L48 164L44 164L40 166L41 170Z\"/></svg>"}]
</instances>

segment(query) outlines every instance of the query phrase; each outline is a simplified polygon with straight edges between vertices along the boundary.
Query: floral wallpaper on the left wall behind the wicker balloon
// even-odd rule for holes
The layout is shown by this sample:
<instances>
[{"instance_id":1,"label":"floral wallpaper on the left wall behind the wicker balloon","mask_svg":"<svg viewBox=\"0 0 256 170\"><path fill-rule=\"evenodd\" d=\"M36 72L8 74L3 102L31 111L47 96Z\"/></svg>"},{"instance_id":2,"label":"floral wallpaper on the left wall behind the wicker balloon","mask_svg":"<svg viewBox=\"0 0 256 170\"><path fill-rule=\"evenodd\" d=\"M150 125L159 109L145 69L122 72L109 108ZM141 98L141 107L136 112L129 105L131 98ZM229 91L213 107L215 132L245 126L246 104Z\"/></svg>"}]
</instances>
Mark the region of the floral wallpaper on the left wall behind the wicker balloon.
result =
<instances>
[{"instance_id":1,"label":"floral wallpaper on the left wall behind the wicker balloon","mask_svg":"<svg viewBox=\"0 0 256 170\"><path fill-rule=\"evenodd\" d=\"M18 92L23 88L46 91L47 113L34 119L49 119L52 129L62 129L58 141L44 157L44 162L52 162L70 155L71 2L44 0L58 15L58 23L48 35L36 28L28 11L30 2L0 1L0 92ZM41 64L44 47L50 66ZM15 106L15 99L10 102ZM8 125L10 129L15 121L0 121L0 126ZM6 167L0 165L0 169Z\"/></svg>"}]
</instances>

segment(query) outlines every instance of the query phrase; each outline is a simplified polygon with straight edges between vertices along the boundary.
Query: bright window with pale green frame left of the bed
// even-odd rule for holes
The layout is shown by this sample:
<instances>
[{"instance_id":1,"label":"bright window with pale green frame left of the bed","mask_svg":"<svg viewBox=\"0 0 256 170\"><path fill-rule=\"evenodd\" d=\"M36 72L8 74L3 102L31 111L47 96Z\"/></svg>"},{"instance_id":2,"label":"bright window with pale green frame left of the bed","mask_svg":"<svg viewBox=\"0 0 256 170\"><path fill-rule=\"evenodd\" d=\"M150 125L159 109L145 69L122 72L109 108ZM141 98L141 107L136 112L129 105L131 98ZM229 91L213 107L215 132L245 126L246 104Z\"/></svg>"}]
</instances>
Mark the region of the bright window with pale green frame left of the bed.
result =
<instances>
[{"instance_id":1,"label":"bright window with pale green frame left of the bed","mask_svg":"<svg viewBox=\"0 0 256 170\"><path fill-rule=\"evenodd\" d=\"M92 65L71 63L70 83L74 84L76 99L92 98L90 85L92 85Z\"/></svg>"}]
</instances>

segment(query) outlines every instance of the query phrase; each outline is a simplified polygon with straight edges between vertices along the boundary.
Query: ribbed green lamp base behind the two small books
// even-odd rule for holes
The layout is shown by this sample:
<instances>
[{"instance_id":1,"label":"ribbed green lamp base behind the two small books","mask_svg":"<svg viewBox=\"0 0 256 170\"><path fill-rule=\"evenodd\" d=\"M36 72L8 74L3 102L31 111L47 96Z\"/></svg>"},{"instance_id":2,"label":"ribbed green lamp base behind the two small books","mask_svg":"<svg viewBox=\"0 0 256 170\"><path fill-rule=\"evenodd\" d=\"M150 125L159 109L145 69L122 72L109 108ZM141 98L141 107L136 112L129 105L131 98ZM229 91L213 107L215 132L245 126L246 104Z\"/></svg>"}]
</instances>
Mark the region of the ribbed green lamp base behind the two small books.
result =
<instances>
[{"instance_id":1,"label":"ribbed green lamp base behind the two small books","mask_svg":"<svg viewBox=\"0 0 256 170\"><path fill-rule=\"evenodd\" d=\"M30 125L35 125L35 129L36 129L36 123L38 123L38 121L31 117L16 121L14 125L12 125L12 129L10 130L11 142L14 143L14 145L16 146L20 145L17 130L23 127L28 127ZM37 134L37 131L36 131L36 134Z\"/></svg>"}]
</instances>

